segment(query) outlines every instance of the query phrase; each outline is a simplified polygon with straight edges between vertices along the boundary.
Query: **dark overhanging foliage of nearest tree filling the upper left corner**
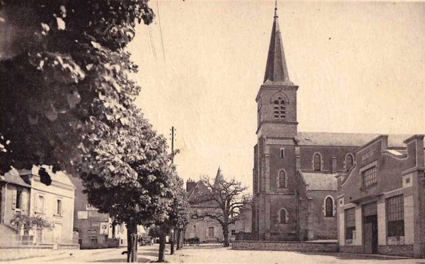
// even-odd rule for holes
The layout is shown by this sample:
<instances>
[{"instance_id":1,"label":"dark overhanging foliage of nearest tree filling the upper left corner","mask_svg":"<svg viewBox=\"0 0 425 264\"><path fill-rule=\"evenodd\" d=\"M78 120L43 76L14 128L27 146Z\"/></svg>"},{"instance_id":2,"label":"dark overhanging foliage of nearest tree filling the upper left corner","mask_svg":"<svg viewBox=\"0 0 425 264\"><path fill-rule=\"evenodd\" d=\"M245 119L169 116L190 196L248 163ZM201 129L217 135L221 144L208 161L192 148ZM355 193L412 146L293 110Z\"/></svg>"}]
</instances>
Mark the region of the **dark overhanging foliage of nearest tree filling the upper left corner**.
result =
<instances>
[{"instance_id":1,"label":"dark overhanging foliage of nearest tree filling the upper left corner","mask_svg":"<svg viewBox=\"0 0 425 264\"><path fill-rule=\"evenodd\" d=\"M127 125L140 87L124 48L136 21L153 17L147 0L1 1L1 172L45 164L81 173L91 139Z\"/></svg>"}]
</instances>

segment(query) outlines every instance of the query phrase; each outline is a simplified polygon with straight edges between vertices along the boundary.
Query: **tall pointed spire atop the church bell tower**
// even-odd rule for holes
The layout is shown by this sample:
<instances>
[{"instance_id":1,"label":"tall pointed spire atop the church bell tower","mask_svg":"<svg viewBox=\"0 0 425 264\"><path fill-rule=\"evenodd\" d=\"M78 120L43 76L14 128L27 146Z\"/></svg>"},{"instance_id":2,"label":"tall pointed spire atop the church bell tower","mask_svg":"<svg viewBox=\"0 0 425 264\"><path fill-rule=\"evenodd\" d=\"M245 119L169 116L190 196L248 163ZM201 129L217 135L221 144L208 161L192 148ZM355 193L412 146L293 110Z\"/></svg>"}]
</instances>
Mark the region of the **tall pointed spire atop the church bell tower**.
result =
<instances>
[{"instance_id":1,"label":"tall pointed spire atop the church bell tower","mask_svg":"<svg viewBox=\"0 0 425 264\"><path fill-rule=\"evenodd\" d=\"M275 2L275 19L273 21L272 36L270 38L269 54L267 55L264 84L293 85L292 81L289 80L282 37L280 36L277 0Z\"/></svg>"}]
</instances>

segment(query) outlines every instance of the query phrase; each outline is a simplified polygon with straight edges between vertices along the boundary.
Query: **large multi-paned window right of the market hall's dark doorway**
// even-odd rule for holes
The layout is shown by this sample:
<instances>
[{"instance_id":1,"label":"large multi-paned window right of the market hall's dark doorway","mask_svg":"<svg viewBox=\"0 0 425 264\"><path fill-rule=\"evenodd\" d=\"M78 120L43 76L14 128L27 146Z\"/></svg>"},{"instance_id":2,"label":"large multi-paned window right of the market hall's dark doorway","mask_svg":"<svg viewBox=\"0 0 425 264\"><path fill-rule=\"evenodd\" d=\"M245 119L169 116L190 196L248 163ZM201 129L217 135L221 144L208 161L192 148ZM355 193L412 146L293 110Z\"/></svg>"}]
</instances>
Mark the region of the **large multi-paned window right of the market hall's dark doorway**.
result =
<instances>
[{"instance_id":1,"label":"large multi-paned window right of the market hall's dark doorway","mask_svg":"<svg viewBox=\"0 0 425 264\"><path fill-rule=\"evenodd\" d=\"M404 200L403 195L385 199L387 213L387 237L404 236Z\"/></svg>"}]
</instances>

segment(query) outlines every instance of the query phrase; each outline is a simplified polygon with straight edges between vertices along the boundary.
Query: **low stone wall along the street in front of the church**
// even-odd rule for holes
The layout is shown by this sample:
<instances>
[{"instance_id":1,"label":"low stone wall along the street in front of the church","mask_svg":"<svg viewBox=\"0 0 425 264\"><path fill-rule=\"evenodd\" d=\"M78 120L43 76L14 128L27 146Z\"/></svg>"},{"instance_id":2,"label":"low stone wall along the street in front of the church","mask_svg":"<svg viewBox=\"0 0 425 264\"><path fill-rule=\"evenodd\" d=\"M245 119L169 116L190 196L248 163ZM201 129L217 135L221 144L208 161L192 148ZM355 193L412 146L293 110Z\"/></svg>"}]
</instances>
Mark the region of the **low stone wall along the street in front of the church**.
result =
<instances>
[{"instance_id":1,"label":"low stone wall along the street in front of the church","mask_svg":"<svg viewBox=\"0 0 425 264\"><path fill-rule=\"evenodd\" d=\"M233 241L234 250L278 250L298 252L338 252L336 242Z\"/></svg>"}]
</instances>

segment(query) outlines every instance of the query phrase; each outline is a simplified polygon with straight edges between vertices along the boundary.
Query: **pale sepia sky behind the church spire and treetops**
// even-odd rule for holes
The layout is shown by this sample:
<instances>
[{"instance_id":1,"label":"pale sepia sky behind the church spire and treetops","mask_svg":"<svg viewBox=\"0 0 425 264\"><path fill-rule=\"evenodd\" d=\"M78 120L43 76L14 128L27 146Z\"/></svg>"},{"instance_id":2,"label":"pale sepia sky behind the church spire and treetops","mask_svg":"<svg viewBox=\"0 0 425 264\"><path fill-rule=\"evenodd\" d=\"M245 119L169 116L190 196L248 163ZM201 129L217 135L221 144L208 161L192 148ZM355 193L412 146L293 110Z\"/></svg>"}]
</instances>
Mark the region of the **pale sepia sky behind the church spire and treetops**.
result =
<instances>
[{"instance_id":1,"label":"pale sepia sky behind the church spire and treetops","mask_svg":"<svg viewBox=\"0 0 425 264\"><path fill-rule=\"evenodd\" d=\"M167 138L175 126L185 182L221 166L251 191L275 1L149 3L128 47L136 104ZM298 131L425 133L425 3L278 1L278 16Z\"/></svg>"}]
</instances>

